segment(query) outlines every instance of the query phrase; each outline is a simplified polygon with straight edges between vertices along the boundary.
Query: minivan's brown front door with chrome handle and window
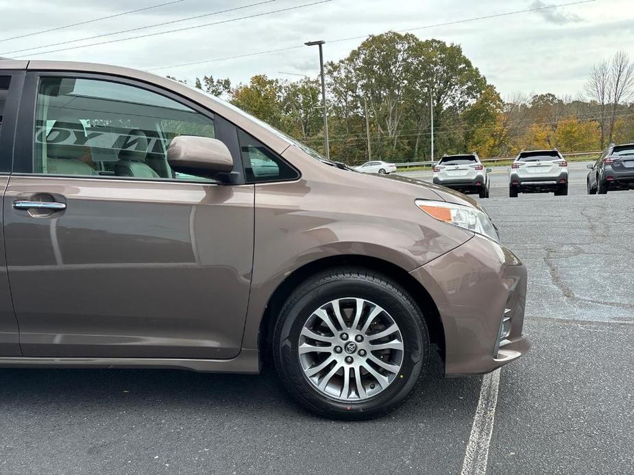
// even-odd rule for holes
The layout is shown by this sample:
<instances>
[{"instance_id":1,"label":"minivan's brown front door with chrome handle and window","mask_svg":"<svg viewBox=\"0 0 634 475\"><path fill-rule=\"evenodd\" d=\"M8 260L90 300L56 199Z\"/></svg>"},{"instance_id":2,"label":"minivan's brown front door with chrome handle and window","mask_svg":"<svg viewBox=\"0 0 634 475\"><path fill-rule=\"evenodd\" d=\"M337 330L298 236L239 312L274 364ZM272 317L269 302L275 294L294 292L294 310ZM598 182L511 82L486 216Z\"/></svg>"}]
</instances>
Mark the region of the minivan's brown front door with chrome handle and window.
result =
<instances>
[{"instance_id":1,"label":"minivan's brown front door with chrome handle and window","mask_svg":"<svg viewBox=\"0 0 634 475\"><path fill-rule=\"evenodd\" d=\"M254 186L179 175L166 157L175 136L221 138L222 119L114 79L31 82L34 118L20 125L32 146L16 152L4 200L23 354L236 356Z\"/></svg>"}]
</instances>

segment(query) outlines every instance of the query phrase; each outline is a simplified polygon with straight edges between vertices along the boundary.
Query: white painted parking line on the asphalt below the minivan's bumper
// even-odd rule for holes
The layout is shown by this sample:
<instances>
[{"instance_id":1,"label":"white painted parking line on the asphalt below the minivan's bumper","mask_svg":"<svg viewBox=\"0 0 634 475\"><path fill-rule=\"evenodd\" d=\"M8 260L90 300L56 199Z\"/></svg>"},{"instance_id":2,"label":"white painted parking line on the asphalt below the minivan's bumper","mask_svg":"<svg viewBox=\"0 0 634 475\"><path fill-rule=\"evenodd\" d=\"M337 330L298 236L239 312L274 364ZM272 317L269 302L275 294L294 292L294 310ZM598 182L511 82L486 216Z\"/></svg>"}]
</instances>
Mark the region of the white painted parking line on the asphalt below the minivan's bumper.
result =
<instances>
[{"instance_id":1,"label":"white painted parking line on the asphalt below the minivan's bumper","mask_svg":"<svg viewBox=\"0 0 634 475\"><path fill-rule=\"evenodd\" d=\"M485 475L487 473L489 444L493 434L493 420L496 417L499 385L499 369L485 374L482 378L480 400L478 400L478 407L476 407L474 425L471 428L461 475Z\"/></svg>"}]
</instances>

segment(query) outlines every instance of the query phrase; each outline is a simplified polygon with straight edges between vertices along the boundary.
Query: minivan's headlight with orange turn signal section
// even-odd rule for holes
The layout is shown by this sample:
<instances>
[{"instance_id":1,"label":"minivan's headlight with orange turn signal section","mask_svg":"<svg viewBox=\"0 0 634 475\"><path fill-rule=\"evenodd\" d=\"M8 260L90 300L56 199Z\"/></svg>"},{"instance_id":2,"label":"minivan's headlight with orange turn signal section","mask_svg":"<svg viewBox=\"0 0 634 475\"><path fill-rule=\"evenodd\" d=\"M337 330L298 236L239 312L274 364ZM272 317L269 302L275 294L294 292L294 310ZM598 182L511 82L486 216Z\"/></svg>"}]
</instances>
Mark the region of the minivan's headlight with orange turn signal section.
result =
<instances>
[{"instance_id":1,"label":"minivan's headlight with orange turn signal section","mask_svg":"<svg viewBox=\"0 0 634 475\"><path fill-rule=\"evenodd\" d=\"M446 203L445 201L415 200L414 203L432 218L500 242L500 236L491 219L479 209L465 205L454 205L454 203Z\"/></svg>"}]
</instances>

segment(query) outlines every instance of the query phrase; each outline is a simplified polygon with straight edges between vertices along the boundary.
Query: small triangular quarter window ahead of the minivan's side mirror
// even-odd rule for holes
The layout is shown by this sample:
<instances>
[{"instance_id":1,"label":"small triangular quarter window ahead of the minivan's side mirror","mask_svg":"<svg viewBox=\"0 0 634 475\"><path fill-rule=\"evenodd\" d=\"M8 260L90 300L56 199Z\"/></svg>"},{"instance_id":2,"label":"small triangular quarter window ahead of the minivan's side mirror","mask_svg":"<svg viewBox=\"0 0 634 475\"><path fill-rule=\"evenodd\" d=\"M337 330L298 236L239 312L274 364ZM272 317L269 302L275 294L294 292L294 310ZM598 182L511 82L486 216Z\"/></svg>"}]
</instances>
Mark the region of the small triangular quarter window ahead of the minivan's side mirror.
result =
<instances>
[{"instance_id":1,"label":"small triangular quarter window ahead of the minivan's side mirror","mask_svg":"<svg viewBox=\"0 0 634 475\"><path fill-rule=\"evenodd\" d=\"M294 168L248 133L239 130L238 138L248 182L291 180L299 177Z\"/></svg>"}]
</instances>

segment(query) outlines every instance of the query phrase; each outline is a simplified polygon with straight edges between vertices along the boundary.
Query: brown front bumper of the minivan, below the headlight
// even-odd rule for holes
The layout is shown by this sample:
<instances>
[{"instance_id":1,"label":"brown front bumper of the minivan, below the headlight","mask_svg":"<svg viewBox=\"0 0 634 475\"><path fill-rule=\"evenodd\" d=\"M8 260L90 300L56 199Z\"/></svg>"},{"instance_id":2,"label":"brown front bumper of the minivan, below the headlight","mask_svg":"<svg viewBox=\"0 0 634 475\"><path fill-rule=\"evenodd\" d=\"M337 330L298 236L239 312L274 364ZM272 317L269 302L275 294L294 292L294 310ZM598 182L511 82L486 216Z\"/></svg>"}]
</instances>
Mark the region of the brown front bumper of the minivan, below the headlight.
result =
<instances>
[{"instance_id":1,"label":"brown front bumper of the minivan, below the headlight","mask_svg":"<svg viewBox=\"0 0 634 475\"><path fill-rule=\"evenodd\" d=\"M531 347L522 334L526 267L511 251L478 234L411 272L437 305L445 335L445 374L485 373ZM510 316L500 344L500 324Z\"/></svg>"}]
</instances>

